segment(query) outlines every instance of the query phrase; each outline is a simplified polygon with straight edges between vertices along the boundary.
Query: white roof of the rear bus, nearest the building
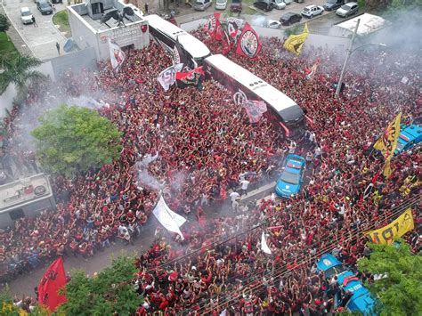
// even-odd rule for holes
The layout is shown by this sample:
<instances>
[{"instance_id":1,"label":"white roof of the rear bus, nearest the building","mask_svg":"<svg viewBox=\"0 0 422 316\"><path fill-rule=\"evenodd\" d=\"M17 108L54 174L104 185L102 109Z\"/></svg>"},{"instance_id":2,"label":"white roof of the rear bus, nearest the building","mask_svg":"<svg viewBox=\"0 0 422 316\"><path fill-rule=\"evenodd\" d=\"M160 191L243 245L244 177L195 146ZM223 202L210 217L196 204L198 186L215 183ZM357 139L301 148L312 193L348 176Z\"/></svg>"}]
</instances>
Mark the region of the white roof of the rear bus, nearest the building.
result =
<instances>
[{"instance_id":1,"label":"white roof of the rear bus, nearest the building","mask_svg":"<svg viewBox=\"0 0 422 316\"><path fill-rule=\"evenodd\" d=\"M173 23L160 18L157 14L151 14L143 17L148 21L152 28L156 28L168 36L171 36L175 41L179 37L179 43L183 45L186 52L190 53L193 58L203 58L210 54L207 45L199 41L195 36L178 28Z\"/></svg>"}]
</instances>

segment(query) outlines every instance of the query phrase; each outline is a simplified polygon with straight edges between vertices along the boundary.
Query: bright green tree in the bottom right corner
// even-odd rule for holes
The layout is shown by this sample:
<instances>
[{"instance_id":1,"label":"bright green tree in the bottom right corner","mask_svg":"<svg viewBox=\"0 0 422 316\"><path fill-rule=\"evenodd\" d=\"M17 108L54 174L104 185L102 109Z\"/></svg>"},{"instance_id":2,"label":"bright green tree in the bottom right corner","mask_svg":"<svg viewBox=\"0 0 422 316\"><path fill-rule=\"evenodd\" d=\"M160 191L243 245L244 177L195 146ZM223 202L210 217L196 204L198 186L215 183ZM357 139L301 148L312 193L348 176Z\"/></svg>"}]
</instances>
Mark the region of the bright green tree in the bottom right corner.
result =
<instances>
[{"instance_id":1,"label":"bright green tree in the bottom right corner","mask_svg":"<svg viewBox=\"0 0 422 316\"><path fill-rule=\"evenodd\" d=\"M397 247L369 243L369 259L358 262L359 271L384 276L369 290L378 298L381 315L419 315L422 311L422 257L412 255L409 245L399 239Z\"/></svg>"}]
</instances>

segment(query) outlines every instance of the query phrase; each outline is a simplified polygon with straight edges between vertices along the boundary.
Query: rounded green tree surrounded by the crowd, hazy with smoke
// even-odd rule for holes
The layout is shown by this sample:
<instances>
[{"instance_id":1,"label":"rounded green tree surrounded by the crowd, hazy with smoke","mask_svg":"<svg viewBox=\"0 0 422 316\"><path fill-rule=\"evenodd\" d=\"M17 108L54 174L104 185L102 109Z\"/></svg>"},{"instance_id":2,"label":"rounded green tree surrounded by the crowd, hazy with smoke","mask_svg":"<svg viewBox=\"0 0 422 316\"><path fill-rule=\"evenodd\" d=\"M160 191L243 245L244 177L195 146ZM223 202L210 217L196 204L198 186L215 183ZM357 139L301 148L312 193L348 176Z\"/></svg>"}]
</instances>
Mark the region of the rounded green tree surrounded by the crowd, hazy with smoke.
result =
<instances>
[{"instance_id":1,"label":"rounded green tree surrounded by the crowd, hazy with smoke","mask_svg":"<svg viewBox=\"0 0 422 316\"><path fill-rule=\"evenodd\" d=\"M62 105L38 120L41 125L31 134L37 140L37 157L48 171L85 173L119 158L121 133L93 109Z\"/></svg>"}]
</instances>

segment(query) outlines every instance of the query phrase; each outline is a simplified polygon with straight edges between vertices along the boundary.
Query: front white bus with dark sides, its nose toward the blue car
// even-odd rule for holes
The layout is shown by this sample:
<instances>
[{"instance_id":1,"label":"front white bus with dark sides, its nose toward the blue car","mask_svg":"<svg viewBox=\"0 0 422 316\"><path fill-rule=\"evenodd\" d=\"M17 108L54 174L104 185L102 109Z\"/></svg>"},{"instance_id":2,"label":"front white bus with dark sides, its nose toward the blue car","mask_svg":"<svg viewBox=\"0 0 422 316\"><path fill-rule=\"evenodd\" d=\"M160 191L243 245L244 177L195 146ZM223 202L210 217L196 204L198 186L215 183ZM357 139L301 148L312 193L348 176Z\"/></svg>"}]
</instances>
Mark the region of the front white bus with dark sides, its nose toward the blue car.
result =
<instances>
[{"instance_id":1,"label":"front white bus with dark sides, its nose toward the blue car","mask_svg":"<svg viewBox=\"0 0 422 316\"><path fill-rule=\"evenodd\" d=\"M286 137L297 140L304 135L304 110L286 94L221 54L207 57L203 69L206 78L215 79L231 91L235 103L264 101L267 104L266 117Z\"/></svg>"}]
</instances>

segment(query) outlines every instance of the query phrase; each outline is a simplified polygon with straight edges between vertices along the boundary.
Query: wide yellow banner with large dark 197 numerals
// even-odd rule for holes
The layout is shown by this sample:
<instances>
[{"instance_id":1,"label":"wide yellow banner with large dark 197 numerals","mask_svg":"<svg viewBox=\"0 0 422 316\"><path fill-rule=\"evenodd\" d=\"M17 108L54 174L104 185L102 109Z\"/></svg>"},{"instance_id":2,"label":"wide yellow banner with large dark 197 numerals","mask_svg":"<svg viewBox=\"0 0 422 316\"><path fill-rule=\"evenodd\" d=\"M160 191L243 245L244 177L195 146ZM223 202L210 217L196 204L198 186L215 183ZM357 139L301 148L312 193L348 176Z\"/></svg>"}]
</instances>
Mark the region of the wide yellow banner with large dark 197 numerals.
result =
<instances>
[{"instance_id":1,"label":"wide yellow banner with large dark 197 numerals","mask_svg":"<svg viewBox=\"0 0 422 316\"><path fill-rule=\"evenodd\" d=\"M406 232L413 230L413 215L408 208L393 223L389 223L376 231L369 231L368 236L376 244L391 244L394 237L402 237Z\"/></svg>"}]
</instances>

